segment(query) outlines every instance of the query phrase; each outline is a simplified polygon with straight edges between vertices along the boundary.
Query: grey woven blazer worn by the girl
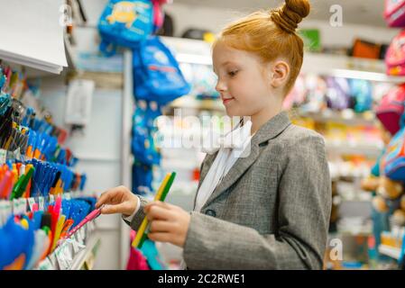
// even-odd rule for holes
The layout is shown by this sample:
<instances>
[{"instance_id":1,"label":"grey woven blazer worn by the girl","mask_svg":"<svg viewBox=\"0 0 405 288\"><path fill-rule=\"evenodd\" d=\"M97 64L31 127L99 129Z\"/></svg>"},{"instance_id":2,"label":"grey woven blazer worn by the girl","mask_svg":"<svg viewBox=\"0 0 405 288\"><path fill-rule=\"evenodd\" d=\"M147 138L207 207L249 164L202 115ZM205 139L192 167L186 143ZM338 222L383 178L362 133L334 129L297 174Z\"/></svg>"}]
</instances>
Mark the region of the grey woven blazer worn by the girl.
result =
<instances>
[{"instance_id":1,"label":"grey woven blazer worn by the girl","mask_svg":"<svg viewBox=\"0 0 405 288\"><path fill-rule=\"evenodd\" d=\"M204 159L198 188L215 157ZM323 138L281 112L254 134L250 155L202 213L191 212L184 260L189 269L321 269L331 199ZM129 224L138 229L143 217L140 209Z\"/></svg>"}]
</instances>

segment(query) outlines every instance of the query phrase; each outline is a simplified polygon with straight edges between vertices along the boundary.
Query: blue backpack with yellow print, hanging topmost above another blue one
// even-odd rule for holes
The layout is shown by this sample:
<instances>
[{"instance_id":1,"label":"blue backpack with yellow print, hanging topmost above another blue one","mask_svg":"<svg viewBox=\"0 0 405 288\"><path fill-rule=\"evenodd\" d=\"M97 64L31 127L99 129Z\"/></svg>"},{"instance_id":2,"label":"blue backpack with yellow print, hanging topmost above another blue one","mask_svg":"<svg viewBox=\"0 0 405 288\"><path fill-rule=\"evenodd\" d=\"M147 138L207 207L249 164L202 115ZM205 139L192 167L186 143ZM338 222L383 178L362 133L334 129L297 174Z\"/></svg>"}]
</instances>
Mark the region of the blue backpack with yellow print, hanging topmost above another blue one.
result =
<instances>
[{"instance_id":1,"label":"blue backpack with yellow print, hanging topmost above another blue one","mask_svg":"<svg viewBox=\"0 0 405 288\"><path fill-rule=\"evenodd\" d=\"M100 50L111 56L117 45L136 47L153 29L152 1L110 0L98 22Z\"/></svg>"}]
</instances>

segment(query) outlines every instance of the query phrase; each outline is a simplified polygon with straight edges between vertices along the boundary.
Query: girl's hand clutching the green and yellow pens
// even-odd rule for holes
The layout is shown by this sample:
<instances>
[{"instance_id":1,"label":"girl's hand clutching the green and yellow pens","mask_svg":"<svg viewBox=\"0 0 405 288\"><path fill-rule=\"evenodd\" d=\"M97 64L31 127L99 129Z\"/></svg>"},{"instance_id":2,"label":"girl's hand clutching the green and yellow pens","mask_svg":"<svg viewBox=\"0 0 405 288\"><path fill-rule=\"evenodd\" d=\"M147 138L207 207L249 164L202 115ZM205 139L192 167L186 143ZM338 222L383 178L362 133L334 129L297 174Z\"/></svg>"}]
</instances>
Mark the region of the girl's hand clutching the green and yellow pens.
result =
<instances>
[{"instance_id":1,"label":"girl's hand clutching the green and yellow pens","mask_svg":"<svg viewBox=\"0 0 405 288\"><path fill-rule=\"evenodd\" d=\"M184 247L189 230L189 212L165 202L150 202L144 211L151 221L148 238Z\"/></svg>"}]
</instances>

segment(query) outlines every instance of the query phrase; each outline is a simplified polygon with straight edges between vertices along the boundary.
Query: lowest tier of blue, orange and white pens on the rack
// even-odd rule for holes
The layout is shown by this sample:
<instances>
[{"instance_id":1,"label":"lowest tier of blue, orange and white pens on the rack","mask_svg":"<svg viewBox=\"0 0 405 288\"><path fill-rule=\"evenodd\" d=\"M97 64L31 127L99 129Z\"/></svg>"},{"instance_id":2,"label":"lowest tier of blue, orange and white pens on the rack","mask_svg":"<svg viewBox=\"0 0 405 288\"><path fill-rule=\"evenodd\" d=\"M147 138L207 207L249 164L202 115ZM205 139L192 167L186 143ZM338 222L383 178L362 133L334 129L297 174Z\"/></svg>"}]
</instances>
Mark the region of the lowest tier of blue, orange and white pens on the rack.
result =
<instances>
[{"instance_id":1,"label":"lowest tier of blue, orange and white pens on the rack","mask_svg":"<svg viewBox=\"0 0 405 288\"><path fill-rule=\"evenodd\" d=\"M52 200L42 199L10 214L0 226L0 269L32 269L49 256L58 246L60 238L71 238L88 220L93 220L96 197L78 197ZM4 212L0 202L0 215Z\"/></svg>"}]
</instances>

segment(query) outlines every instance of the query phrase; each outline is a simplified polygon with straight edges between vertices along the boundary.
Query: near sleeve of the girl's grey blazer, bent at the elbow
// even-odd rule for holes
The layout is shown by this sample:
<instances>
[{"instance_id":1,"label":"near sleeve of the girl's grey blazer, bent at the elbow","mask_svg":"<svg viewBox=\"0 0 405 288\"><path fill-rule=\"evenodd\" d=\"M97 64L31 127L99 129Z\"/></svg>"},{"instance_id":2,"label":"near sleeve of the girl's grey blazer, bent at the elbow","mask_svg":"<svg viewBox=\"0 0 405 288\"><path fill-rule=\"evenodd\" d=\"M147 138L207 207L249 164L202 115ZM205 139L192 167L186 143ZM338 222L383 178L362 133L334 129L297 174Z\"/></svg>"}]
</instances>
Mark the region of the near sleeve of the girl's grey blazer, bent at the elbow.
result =
<instances>
[{"instance_id":1,"label":"near sleeve of the girl's grey blazer, bent at the elbow","mask_svg":"<svg viewBox=\"0 0 405 288\"><path fill-rule=\"evenodd\" d=\"M275 233L192 212L183 249L190 269L322 268L332 198L325 144L310 135L283 149Z\"/></svg>"}]
</instances>

